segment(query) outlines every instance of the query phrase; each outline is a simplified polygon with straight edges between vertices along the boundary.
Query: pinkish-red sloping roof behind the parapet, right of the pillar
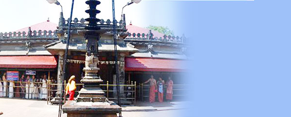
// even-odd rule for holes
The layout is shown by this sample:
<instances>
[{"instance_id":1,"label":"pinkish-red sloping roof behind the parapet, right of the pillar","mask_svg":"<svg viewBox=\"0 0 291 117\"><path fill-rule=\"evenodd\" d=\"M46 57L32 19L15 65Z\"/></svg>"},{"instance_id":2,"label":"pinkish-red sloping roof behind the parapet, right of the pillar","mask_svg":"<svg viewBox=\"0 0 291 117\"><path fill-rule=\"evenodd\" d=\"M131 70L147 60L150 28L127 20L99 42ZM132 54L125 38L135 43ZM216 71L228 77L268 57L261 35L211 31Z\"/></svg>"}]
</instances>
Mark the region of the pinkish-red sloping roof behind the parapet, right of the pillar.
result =
<instances>
[{"instance_id":1,"label":"pinkish-red sloping roof behind the parapet, right of the pillar","mask_svg":"<svg viewBox=\"0 0 291 117\"><path fill-rule=\"evenodd\" d=\"M147 34L148 31L149 31L149 29L141 28L141 27L134 26L134 25L128 25L128 26L126 26L126 28L128 29L128 32L131 33L131 34L132 33L135 33L135 34L137 34L137 33L140 33L140 34L145 33L145 34ZM158 37L158 38L162 37L163 38L163 36L164 36L164 34L158 32L158 31L155 31L155 30L151 30L151 32L154 35L153 37Z\"/></svg>"}]
</instances>

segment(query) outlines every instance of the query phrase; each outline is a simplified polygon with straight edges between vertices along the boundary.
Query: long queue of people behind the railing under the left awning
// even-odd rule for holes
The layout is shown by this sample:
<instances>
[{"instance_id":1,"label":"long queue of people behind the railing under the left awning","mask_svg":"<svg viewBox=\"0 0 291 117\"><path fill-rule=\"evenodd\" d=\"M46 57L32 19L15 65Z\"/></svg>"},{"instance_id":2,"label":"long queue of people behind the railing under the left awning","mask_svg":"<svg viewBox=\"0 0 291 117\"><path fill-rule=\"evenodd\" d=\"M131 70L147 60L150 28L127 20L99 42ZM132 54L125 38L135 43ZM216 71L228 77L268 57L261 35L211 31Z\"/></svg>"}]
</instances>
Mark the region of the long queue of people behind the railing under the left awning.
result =
<instances>
[{"instance_id":1,"label":"long queue of people behind the railing under the left awning","mask_svg":"<svg viewBox=\"0 0 291 117\"><path fill-rule=\"evenodd\" d=\"M18 81L8 81L6 73L0 79L0 97L25 98L25 99L47 99L47 75L40 78L35 75L21 75Z\"/></svg>"}]
</instances>

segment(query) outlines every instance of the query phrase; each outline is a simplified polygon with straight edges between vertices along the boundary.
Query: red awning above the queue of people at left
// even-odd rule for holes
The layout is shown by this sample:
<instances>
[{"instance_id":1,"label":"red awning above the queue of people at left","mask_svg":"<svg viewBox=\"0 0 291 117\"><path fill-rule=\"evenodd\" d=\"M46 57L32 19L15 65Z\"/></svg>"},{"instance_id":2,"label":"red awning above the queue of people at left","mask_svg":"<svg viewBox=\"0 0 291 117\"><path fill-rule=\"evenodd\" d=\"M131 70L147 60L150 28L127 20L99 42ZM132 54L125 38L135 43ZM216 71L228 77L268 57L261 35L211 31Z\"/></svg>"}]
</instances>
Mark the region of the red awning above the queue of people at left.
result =
<instances>
[{"instance_id":1,"label":"red awning above the queue of people at left","mask_svg":"<svg viewBox=\"0 0 291 117\"><path fill-rule=\"evenodd\" d=\"M1 56L0 68L56 68L53 56Z\"/></svg>"}]
</instances>

